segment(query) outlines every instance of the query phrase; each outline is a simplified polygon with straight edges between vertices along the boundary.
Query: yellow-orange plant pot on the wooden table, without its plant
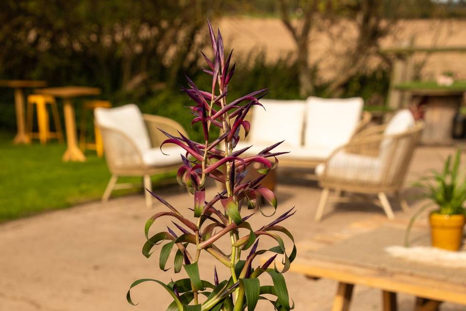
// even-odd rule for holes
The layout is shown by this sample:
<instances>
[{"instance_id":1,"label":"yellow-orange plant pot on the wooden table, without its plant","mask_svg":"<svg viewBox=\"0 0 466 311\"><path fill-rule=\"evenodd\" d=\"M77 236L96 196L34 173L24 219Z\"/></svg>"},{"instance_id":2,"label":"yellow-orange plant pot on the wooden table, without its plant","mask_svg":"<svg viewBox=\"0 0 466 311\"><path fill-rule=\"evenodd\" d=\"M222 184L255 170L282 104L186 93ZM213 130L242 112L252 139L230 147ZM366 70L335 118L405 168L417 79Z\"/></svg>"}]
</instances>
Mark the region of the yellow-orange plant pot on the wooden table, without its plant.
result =
<instances>
[{"instance_id":1,"label":"yellow-orange plant pot on the wooden table, without its plant","mask_svg":"<svg viewBox=\"0 0 466 311\"><path fill-rule=\"evenodd\" d=\"M457 251L463 241L465 215L442 215L433 212L429 217L433 247Z\"/></svg>"}]
</instances>

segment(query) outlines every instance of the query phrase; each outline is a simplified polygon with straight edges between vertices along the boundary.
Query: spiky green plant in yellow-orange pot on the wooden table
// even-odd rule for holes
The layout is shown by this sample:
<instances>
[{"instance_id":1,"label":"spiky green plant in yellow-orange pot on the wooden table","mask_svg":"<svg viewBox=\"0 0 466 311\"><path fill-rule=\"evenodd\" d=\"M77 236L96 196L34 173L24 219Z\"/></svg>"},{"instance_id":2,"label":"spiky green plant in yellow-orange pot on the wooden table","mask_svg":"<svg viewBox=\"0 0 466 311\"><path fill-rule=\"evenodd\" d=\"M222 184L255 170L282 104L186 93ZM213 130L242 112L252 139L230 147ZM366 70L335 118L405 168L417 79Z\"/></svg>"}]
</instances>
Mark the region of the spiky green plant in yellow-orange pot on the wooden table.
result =
<instances>
[{"instance_id":1,"label":"spiky green plant in yellow-orange pot on the wooden table","mask_svg":"<svg viewBox=\"0 0 466 311\"><path fill-rule=\"evenodd\" d=\"M429 202L413 215L406 229L405 246L409 245L409 232L416 218L429 207L435 209L429 214L432 246L457 251L463 240L465 225L466 177L459 175L461 150L456 151L453 163L448 156L442 172L432 171L421 178L415 186L421 197Z\"/></svg>"}]
</instances>

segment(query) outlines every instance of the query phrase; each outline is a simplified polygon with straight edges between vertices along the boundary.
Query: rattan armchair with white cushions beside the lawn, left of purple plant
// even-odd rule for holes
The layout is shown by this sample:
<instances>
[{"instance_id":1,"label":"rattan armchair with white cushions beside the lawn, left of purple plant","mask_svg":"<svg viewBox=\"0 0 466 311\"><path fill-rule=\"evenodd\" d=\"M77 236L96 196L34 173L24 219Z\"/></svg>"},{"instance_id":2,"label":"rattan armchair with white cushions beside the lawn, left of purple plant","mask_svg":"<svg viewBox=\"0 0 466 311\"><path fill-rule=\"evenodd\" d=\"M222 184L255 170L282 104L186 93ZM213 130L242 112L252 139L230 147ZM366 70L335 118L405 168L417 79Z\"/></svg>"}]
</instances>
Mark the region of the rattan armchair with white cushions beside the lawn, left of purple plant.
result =
<instances>
[{"instance_id":1,"label":"rattan armchair with white cushions beside the lawn, left of purple plant","mask_svg":"<svg viewBox=\"0 0 466 311\"><path fill-rule=\"evenodd\" d=\"M181 163L183 149L160 145L166 139L158 128L172 135L178 131L187 137L186 131L176 121L168 118L141 114L136 105L117 108L97 108L96 125L99 128L107 166L112 174L102 201L106 202L115 189L134 187L134 184L117 184L119 176L141 176L144 187L152 190L150 176L175 171ZM146 206L152 207L152 196L145 191Z\"/></svg>"}]
</instances>

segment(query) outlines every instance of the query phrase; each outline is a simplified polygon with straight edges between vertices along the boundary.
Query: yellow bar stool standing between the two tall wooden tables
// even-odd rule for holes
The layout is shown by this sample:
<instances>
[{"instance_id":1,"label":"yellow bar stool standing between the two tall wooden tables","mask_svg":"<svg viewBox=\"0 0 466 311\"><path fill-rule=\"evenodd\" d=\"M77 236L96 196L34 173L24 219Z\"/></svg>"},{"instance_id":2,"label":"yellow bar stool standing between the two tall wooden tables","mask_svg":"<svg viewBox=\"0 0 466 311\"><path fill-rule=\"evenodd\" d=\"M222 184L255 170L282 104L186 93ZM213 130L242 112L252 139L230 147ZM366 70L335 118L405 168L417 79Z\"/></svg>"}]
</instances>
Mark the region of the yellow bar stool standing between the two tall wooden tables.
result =
<instances>
[{"instance_id":1,"label":"yellow bar stool standing between the two tall wooden tables","mask_svg":"<svg viewBox=\"0 0 466 311\"><path fill-rule=\"evenodd\" d=\"M47 143L50 138L57 138L60 142L63 142L62 124L60 122L55 98L50 95L32 94L28 96L27 102L27 135L30 138L39 138L41 144ZM34 105L37 112L38 132L33 132ZM50 132L50 119L49 112L47 111L47 105L50 105L50 109L52 111L55 132Z\"/></svg>"}]
</instances>

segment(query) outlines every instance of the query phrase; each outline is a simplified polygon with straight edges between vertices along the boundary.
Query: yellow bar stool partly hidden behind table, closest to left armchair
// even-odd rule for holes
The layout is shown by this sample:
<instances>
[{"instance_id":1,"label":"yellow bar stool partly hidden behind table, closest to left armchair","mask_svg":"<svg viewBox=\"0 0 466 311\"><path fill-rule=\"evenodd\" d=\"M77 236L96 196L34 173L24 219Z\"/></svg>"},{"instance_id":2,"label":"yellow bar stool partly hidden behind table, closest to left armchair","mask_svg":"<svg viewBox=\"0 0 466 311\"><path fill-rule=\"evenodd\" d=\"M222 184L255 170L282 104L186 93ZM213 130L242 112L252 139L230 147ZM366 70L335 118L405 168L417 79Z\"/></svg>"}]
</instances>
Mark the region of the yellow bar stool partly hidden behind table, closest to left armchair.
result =
<instances>
[{"instance_id":1,"label":"yellow bar stool partly hidden behind table, closest to left armchair","mask_svg":"<svg viewBox=\"0 0 466 311\"><path fill-rule=\"evenodd\" d=\"M102 136L100 135L99 128L94 125L94 137L95 142L86 143L86 115L90 110L94 112L94 109L97 107L111 108L112 104L109 101L86 101L83 104L83 112L81 114L81 125L80 125L80 134L79 134L79 148L84 152L85 149L95 150L99 157L103 156L103 143ZM92 113L94 117L94 113Z\"/></svg>"}]
</instances>

